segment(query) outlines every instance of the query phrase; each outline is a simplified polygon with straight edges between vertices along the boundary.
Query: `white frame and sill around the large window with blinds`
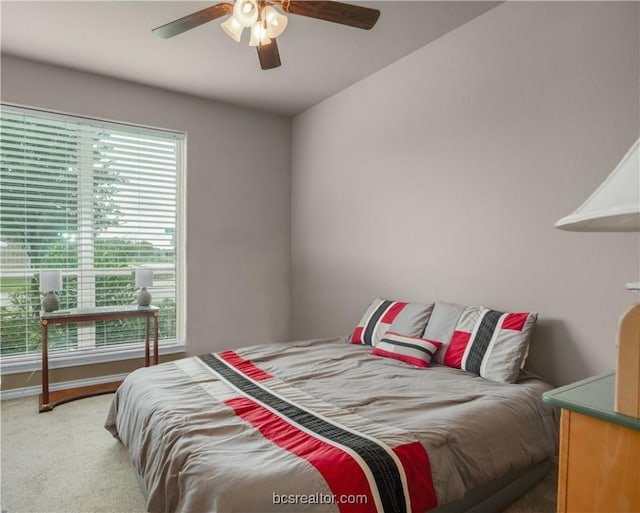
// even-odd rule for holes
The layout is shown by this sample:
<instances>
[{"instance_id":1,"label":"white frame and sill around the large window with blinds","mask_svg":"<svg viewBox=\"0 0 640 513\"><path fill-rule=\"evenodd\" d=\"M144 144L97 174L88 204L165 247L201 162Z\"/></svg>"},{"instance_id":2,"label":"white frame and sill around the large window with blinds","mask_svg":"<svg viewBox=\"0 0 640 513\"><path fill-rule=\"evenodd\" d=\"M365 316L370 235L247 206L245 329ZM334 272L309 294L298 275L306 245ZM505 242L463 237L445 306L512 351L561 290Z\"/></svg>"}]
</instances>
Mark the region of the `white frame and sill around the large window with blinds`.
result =
<instances>
[{"instance_id":1,"label":"white frame and sill around the large window with blinds","mask_svg":"<svg viewBox=\"0 0 640 513\"><path fill-rule=\"evenodd\" d=\"M56 110L38 108L10 102L1 102L3 110L10 110L21 114L41 113L51 118L97 123L108 128L130 127L141 129L148 133L167 135L176 139L176 248L175 248L175 290L176 290L176 339L164 342L159 346L159 354L175 354L185 351L186 340L186 173L187 173L187 145L188 134L184 131L158 128L149 125L115 121L80 114L72 114ZM114 345L103 348L82 349L76 351L60 351L50 353L49 368L75 367L106 362L123 361L144 356L142 341L130 344ZM0 356L0 375L17 374L36 371L41 366L41 353L14 354Z\"/></svg>"}]
</instances>

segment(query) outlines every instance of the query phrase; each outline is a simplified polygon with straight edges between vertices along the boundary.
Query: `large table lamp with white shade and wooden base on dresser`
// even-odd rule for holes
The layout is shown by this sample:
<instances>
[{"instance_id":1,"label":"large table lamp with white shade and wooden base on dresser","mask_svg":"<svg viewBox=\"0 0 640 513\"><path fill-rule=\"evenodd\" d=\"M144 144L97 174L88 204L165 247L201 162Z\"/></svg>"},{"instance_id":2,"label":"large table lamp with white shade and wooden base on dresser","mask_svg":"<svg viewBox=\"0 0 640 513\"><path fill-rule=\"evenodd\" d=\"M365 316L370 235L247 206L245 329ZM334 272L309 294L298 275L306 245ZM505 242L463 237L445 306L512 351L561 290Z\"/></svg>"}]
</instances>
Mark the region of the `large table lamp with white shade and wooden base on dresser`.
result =
<instances>
[{"instance_id":1,"label":"large table lamp with white shade and wooden base on dresser","mask_svg":"<svg viewBox=\"0 0 640 513\"><path fill-rule=\"evenodd\" d=\"M581 232L640 232L640 139L613 172L572 214L556 222L561 230ZM638 283L627 284L637 290ZM640 303L620 318L617 336L617 413L640 418Z\"/></svg>"}]
</instances>

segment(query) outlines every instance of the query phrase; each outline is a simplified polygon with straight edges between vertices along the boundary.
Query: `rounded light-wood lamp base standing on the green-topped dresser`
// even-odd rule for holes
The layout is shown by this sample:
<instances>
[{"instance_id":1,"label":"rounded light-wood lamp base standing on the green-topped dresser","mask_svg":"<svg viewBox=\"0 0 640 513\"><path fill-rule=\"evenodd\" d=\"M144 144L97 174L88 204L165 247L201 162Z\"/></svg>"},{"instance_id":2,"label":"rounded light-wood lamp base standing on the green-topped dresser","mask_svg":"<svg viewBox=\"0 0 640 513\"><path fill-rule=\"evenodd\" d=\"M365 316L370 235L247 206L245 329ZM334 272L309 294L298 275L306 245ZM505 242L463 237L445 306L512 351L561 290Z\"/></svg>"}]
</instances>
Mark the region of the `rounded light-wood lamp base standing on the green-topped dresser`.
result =
<instances>
[{"instance_id":1,"label":"rounded light-wood lamp base standing on the green-topped dresser","mask_svg":"<svg viewBox=\"0 0 640 513\"><path fill-rule=\"evenodd\" d=\"M640 418L640 303L620 318L614 410Z\"/></svg>"}]
</instances>

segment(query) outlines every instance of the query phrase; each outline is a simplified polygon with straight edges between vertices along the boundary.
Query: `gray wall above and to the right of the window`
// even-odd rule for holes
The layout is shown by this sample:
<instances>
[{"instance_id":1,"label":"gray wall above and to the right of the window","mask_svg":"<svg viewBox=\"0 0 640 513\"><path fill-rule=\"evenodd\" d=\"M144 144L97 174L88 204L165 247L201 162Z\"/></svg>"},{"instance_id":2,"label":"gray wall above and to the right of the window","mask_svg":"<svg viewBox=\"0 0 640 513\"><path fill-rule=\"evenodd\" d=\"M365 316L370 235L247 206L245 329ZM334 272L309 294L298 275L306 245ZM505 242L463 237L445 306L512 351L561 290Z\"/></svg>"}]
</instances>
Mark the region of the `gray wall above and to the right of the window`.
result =
<instances>
[{"instance_id":1,"label":"gray wall above and to the right of the window","mask_svg":"<svg viewBox=\"0 0 640 513\"><path fill-rule=\"evenodd\" d=\"M187 350L288 338L289 119L6 56L2 101L187 132Z\"/></svg>"}]
</instances>

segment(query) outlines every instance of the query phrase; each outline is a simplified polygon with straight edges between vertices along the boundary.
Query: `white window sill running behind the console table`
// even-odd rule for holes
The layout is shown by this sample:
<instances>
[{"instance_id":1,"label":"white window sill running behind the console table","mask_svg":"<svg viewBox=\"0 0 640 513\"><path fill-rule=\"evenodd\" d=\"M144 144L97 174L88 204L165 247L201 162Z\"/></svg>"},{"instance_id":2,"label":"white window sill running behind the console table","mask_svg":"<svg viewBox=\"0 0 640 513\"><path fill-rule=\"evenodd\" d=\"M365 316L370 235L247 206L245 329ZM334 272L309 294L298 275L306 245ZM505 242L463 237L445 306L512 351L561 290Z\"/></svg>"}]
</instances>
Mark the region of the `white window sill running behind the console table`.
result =
<instances>
[{"instance_id":1,"label":"white window sill running behind the console table","mask_svg":"<svg viewBox=\"0 0 640 513\"><path fill-rule=\"evenodd\" d=\"M164 343L158 348L160 355L182 353L186 350L184 344ZM109 349L85 349L80 351L68 351L65 353L49 354L49 369L63 367L77 367L80 365L92 365L120 360L133 360L144 357L144 346L140 344L122 345ZM19 374L32 372L42 368L42 356L31 354L29 356L5 357L0 362L0 371L5 374Z\"/></svg>"}]
</instances>

